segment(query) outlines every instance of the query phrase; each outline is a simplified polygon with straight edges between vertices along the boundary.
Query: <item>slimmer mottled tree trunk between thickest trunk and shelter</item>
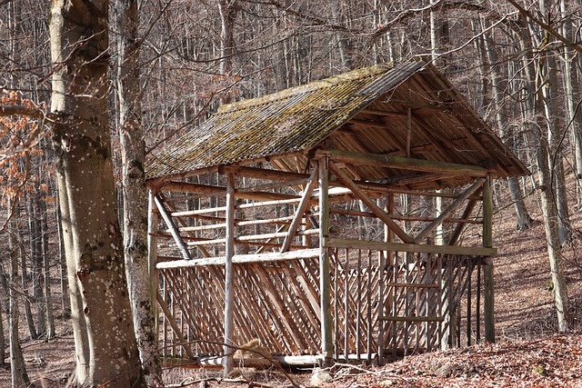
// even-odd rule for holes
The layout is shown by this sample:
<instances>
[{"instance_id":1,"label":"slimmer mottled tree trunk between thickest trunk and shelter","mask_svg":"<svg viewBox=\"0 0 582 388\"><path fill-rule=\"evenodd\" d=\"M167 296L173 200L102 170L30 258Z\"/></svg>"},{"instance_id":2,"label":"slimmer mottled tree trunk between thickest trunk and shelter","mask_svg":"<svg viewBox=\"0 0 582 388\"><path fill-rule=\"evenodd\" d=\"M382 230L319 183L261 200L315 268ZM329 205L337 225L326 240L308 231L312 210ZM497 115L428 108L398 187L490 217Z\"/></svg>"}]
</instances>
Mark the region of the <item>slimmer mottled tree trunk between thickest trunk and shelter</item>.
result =
<instances>
[{"instance_id":1,"label":"slimmer mottled tree trunk between thickest trunk and shelter","mask_svg":"<svg viewBox=\"0 0 582 388\"><path fill-rule=\"evenodd\" d=\"M156 335L156 290L147 261L146 151L139 84L139 12L137 0L115 0L117 98L122 157L125 270L135 338L147 383L161 386L162 368Z\"/></svg>"}]
</instances>

